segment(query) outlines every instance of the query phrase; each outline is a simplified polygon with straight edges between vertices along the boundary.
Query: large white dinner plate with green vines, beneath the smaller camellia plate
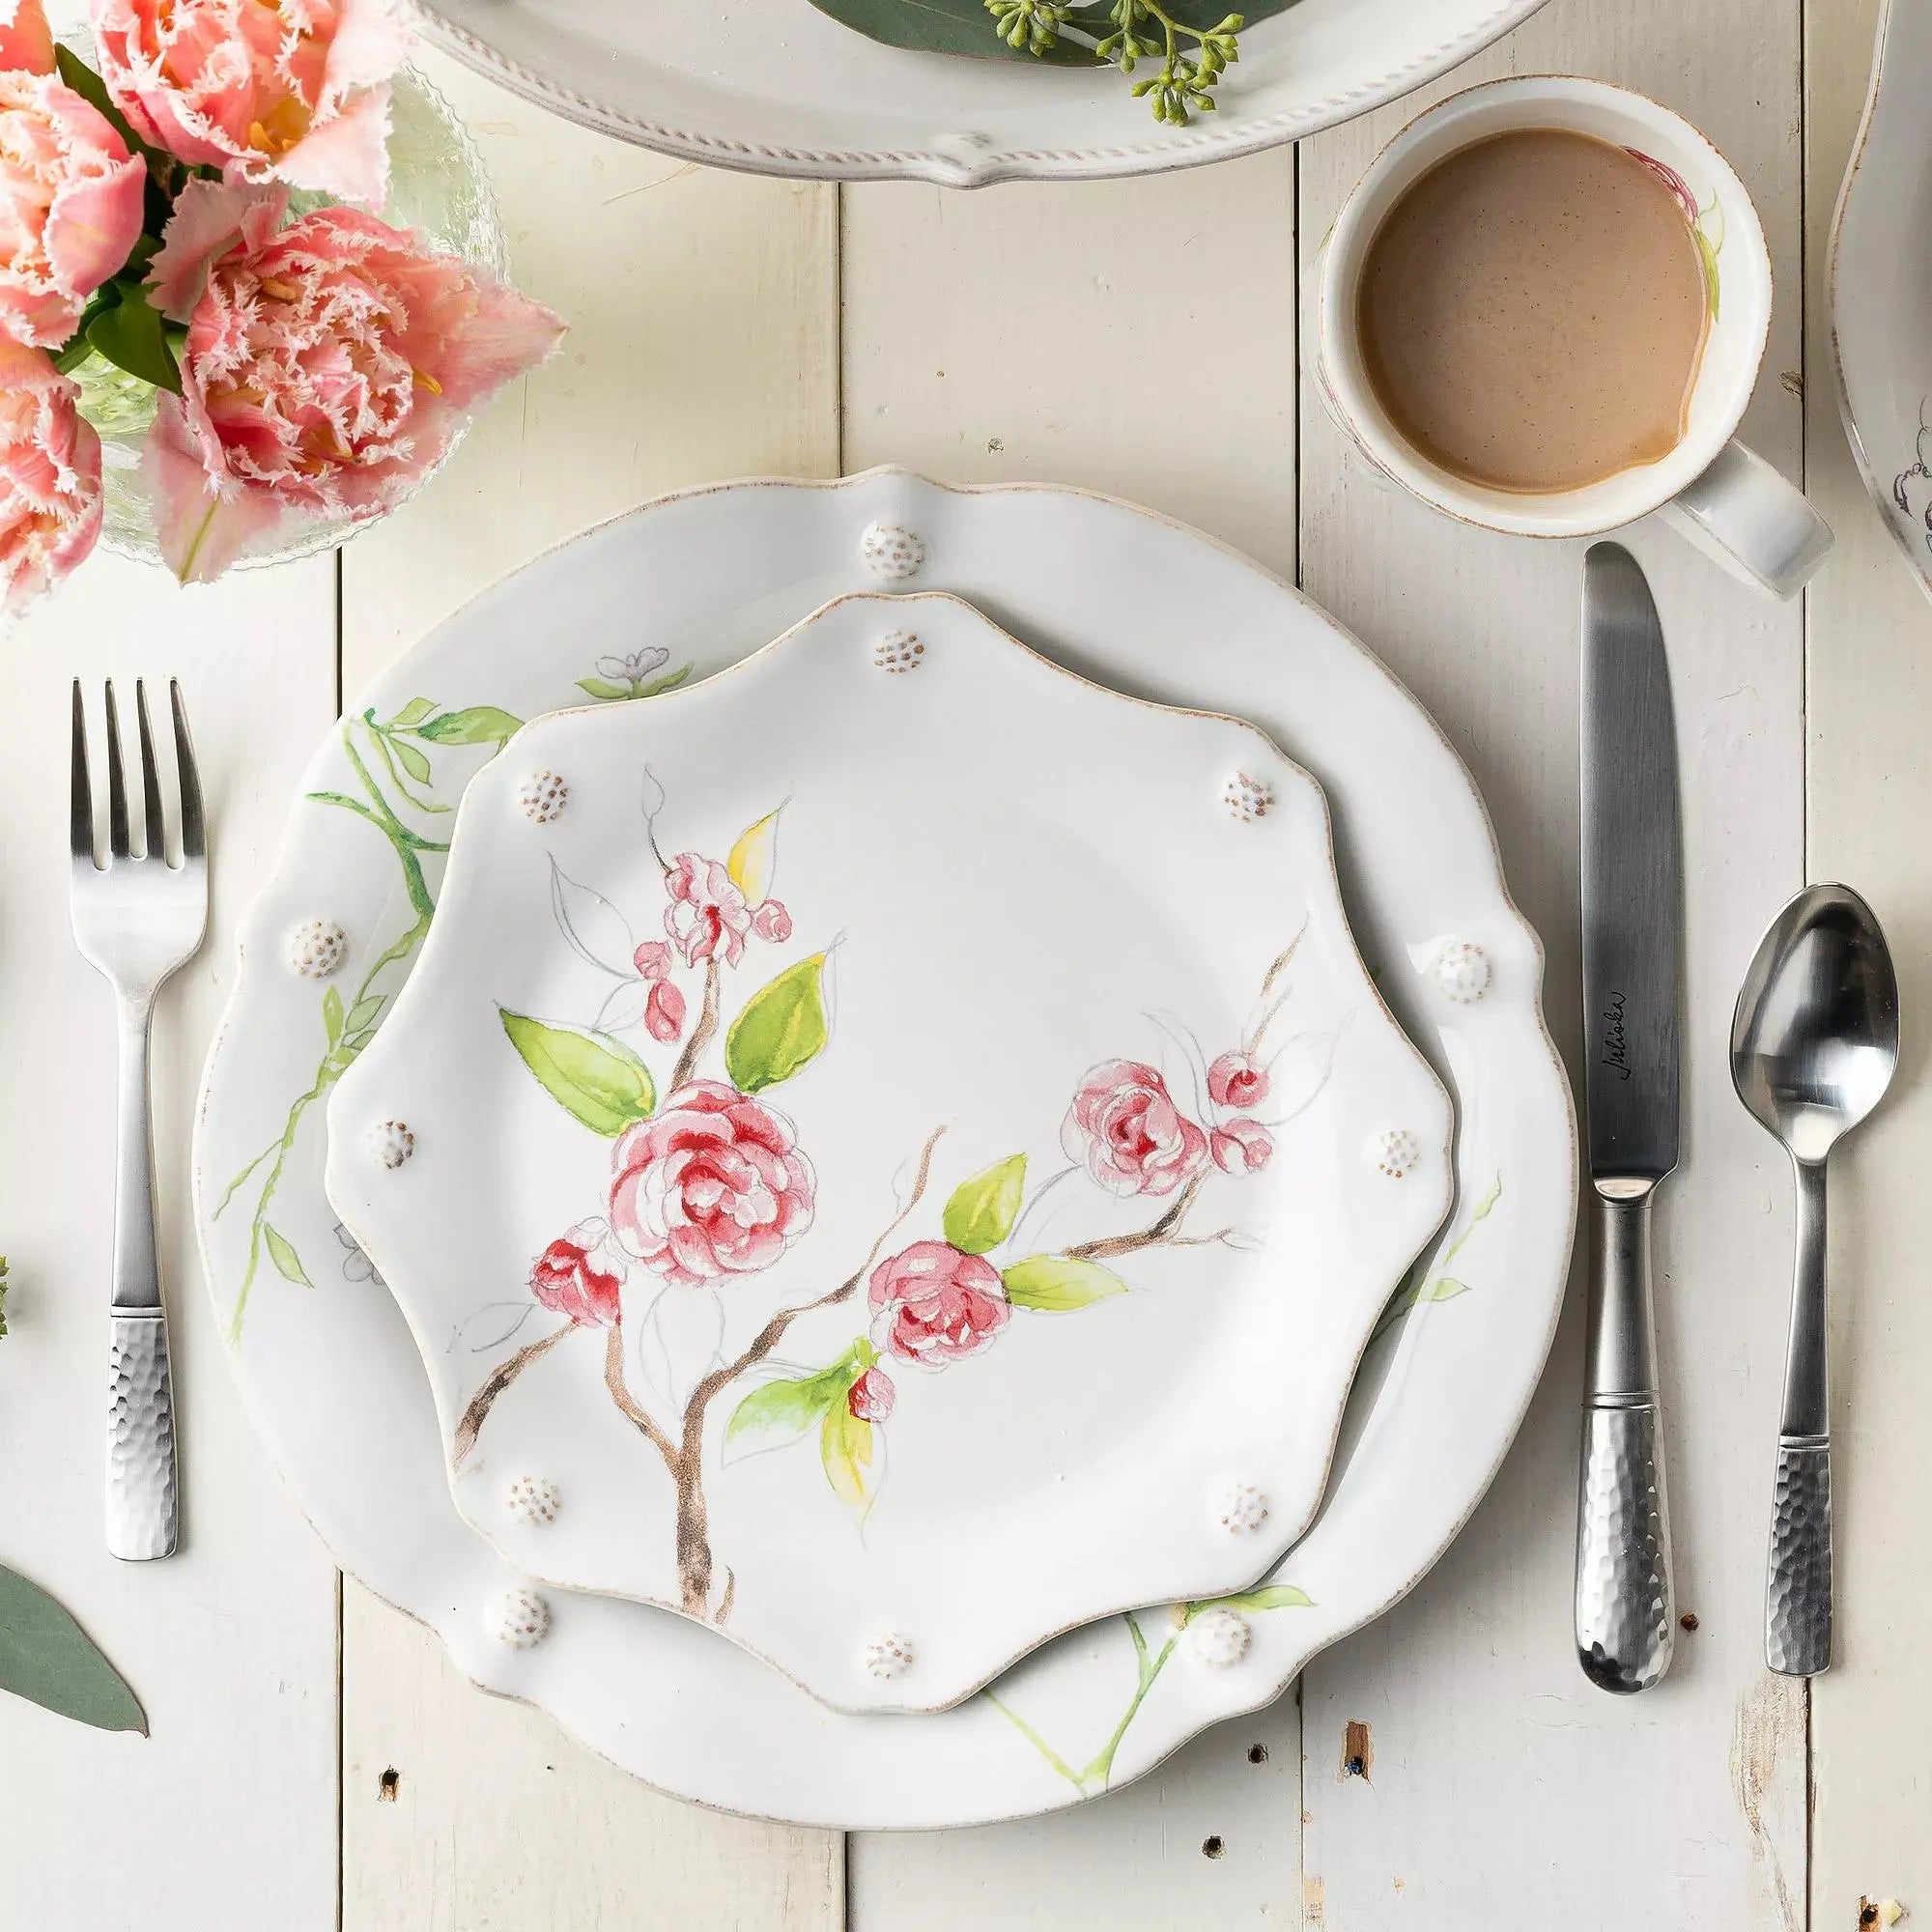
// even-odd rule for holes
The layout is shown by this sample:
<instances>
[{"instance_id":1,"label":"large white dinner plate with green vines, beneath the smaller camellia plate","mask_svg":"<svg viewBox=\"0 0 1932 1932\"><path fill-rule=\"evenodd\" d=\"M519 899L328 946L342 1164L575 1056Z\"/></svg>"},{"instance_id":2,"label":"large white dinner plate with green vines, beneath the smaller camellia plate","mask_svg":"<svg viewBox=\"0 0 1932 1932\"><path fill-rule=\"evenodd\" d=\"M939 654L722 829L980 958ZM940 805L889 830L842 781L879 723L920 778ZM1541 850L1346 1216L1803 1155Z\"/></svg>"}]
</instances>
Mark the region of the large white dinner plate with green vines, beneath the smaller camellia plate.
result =
<instances>
[{"instance_id":1,"label":"large white dinner plate with green vines, beneath the smaller camellia plate","mask_svg":"<svg viewBox=\"0 0 1932 1932\"><path fill-rule=\"evenodd\" d=\"M920 1718L829 1712L682 1617L531 1590L473 1536L408 1327L336 1229L321 1109L301 1103L381 1022L427 931L442 815L404 796L454 806L520 717L723 668L881 583L954 591L1068 668L1246 717L1308 767L1335 813L1362 951L1459 1117L1457 1206L1370 1345L1323 1513L1265 1584L1074 1631ZM1542 1020L1542 952L1441 732L1256 564L1045 487L881 469L690 491L551 551L442 624L330 734L303 792L242 922L203 1086L205 1271L249 1406L317 1530L483 1689L728 1810L848 1830L1043 1812L1271 1702L1412 1588L1480 1501L1542 1372L1575 1223L1575 1117ZM338 949L332 978L299 970Z\"/></svg>"}]
</instances>

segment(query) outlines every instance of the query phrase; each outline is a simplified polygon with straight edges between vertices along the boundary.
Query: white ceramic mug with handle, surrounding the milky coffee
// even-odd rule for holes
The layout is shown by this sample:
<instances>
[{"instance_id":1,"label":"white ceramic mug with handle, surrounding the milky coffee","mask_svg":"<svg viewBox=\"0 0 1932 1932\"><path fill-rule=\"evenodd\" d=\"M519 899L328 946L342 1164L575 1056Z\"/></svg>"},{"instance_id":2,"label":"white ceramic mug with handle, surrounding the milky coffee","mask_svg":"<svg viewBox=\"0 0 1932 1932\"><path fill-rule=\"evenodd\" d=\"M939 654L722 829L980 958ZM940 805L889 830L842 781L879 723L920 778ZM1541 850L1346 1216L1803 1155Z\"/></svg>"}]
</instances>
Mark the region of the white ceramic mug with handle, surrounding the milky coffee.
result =
<instances>
[{"instance_id":1,"label":"white ceramic mug with handle, surrounding the milky coffee","mask_svg":"<svg viewBox=\"0 0 1932 1932\"><path fill-rule=\"evenodd\" d=\"M1503 491L1430 462L1389 421L1362 359L1362 259L1401 195L1486 135L1565 128L1667 170L1714 270L1710 330L1683 439L1654 464L1563 491ZM1743 182L1689 122L1602 81L1530 75L1453 95L1412 120L1343 203L1320 263L1318 373L1335 421L1385 475L1449 516L1526 537L1594 537L1652 510L1719 564L1793 597L1832 549L1832 527L1764 458L1735 440L1772 323L1772 263Z\"/></svg>"}]
</instances>

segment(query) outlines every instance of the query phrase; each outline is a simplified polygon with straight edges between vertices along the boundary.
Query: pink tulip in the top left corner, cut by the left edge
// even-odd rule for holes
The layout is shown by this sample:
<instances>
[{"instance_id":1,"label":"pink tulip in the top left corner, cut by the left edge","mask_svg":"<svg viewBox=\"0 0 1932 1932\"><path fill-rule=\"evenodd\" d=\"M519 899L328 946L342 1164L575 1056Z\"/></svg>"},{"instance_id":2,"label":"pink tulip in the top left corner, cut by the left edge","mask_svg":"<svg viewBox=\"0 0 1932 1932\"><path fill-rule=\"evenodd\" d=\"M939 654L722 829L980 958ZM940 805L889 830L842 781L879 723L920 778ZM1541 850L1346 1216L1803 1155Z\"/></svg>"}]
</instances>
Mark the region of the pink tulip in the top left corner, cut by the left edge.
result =
<instances>
[{"instance_id":1,"label":"pink tulip in the top left corner, cut by the left edge","mask_svg":"<svg viewBox=\"0 0 1932 1932\"><path fill-rule=\"evenodd\" d=\"M56 350L141 236L147 166L54 79L39 0L0 25L0 330Z\"/></svg>"}]
</instances>

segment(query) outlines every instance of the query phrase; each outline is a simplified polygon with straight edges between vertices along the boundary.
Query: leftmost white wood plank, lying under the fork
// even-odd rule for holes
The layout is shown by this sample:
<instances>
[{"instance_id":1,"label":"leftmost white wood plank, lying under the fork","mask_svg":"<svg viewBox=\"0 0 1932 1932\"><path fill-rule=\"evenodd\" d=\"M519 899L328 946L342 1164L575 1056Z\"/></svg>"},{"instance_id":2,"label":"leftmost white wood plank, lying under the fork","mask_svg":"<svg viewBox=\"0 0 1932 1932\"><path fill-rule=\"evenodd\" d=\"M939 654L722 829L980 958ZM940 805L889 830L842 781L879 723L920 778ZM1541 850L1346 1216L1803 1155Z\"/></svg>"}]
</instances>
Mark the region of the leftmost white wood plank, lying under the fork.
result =
<instances>
[{"instance_id":1,"label":"leftmost white wood plank, lying under the fork","mask_svg":"<svg viewBox=\"0 0 1932 1932\"><path fill-rule=\"evenodd\" d=\"M182 593L99 556L0 643L0 1561L73 1609L153 1727L104 1737L0 1696L0 1920L21 1932L334 1926L334 1571L242 1412L187 1206L228 933L334 711L334 630L328 558ZM213 937L155 1022L184 1519L162 1563L116 1563L100 1524L114 1009L68 927L66 813L68 684L108 672L180 676L209 806Z\"/></svg>"}]
</instances>

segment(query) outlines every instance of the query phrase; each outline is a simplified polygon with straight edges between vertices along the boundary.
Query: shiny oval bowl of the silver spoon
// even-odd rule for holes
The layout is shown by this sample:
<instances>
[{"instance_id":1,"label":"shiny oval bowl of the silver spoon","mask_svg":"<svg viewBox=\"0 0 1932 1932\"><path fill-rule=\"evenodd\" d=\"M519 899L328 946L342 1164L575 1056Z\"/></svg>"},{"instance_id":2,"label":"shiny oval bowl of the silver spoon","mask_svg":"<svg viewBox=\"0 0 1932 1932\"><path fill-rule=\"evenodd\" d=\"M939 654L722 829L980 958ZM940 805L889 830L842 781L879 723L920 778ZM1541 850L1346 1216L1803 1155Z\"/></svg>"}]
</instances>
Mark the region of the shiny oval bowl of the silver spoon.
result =
<instances>
[{"instance_id":1,"label":"shiny oval bowl of the silver spoon","mask_svg":"<svg viewBox=\"0 0 1932 1932\"><path fill-rule=\"evenodd\" d=\"M1799 1161L1822 1161L1899 1065L1899 981L1872 908L1808 885L1772 922L1737 995L1737 1097Z\"/></svg>"}]
</instances>

